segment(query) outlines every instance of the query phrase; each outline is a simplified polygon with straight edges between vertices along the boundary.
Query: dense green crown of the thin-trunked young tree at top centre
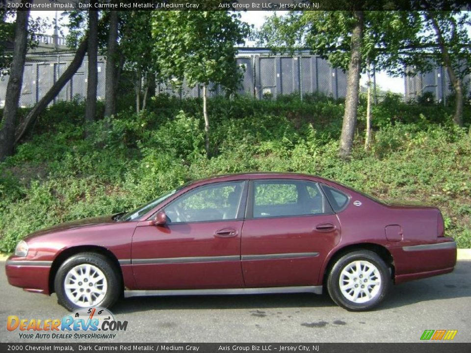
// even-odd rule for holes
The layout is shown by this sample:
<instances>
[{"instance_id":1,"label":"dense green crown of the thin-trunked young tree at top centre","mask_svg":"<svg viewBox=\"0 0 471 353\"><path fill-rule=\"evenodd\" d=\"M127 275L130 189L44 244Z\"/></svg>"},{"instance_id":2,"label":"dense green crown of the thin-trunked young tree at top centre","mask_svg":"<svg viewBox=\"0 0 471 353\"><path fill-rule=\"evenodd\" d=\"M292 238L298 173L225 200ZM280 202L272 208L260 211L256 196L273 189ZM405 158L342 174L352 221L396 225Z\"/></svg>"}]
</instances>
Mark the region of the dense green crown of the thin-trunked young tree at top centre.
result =
<instances>
[{"instance_id":1,"label":"dense green crown of the thin-trunked young tree at top centre","mask_svg":"<svg viewBox=\"0 0 471 353\"><path fill-rule=\"evenodd\" d=\"M152 35L157 63L166 77L220 84L234 91L240 81L236 46L249 27L229 11L155 11ZM175 81L181 85L182 81Z\"/></svg>"}]
</instances>

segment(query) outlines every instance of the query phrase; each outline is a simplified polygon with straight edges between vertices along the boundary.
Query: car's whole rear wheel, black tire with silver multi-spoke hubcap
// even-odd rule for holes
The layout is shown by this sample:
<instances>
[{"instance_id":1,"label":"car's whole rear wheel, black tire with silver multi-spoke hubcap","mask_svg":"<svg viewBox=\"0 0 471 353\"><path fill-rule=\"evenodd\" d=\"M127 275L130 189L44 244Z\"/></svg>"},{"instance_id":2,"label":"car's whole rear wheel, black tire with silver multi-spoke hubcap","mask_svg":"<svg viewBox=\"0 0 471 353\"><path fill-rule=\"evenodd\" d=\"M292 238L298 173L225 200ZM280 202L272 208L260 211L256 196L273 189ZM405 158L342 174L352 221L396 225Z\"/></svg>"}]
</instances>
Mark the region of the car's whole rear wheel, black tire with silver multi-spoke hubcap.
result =
<instances>
[{"instance_id":1,"label":"car's whole rear wheel, black tire with silver multi-spoke hubcap","mask_svg":"<svg viewBox=\"0 0 471 353\"><path fill-rule=\"evenodd\" d=\"M369 276L369 278L366 278L368 276L363 277L364 275L362 275L362 278L359 278L360 276L355 277L354 272L351 273L351 280L350 278L346 279L345 276L342 276L342 271L344 269L351 268L350 266L355 269L357 268L355 261L360 261L360 268L368 269L367 263L369 263L377 269L376 274L380 279L380 284L377 285L378 288L376 288L376 285L368 285L368 283L378 282L378 278L376 276ZM352 271L354 270L352 269ZM342 276L342 283L344 285L351 283L353 288L345 289L342 292L340 288L340 276ZM390 268L385 264L383 259L378 256L378 254L368 250L348 252L340 257L334 263L334 266L330 270L329 277L327 278L327 289L330 297L336 304L349 311L366 311L372 309L383 301L391 288L391 284L392 278ZM364 289L361 289L362 285L364 286ZM357 294L354 292L355 290L357 290ZM372 295L370 299L368 298L366 291L368 291L369 295ZM355 297L356 299L352 300L352 298ZM355 302L355 300L360 303Z\"/></svg>"}]
</instances>

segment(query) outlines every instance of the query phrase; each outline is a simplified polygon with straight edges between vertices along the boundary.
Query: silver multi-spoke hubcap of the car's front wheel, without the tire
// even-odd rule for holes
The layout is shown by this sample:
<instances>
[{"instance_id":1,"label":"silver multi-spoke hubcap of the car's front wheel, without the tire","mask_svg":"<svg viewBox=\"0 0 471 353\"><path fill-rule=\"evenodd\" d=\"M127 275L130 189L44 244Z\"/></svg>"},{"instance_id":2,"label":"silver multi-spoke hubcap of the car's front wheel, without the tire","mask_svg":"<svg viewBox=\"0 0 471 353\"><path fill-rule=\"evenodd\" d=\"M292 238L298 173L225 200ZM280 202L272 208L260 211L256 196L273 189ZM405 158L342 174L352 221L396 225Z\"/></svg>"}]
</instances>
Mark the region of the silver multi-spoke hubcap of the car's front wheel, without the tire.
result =
<instances>
[{"instance_id":1,"label":"silver multi-spoke hubcap of the car's front wheel, without the tire","mask_svg":"<svg viewBox=\"0 0 471 353\"><path fill-rule=\"evenodd\" d=\"M98 267L80 264L65 276L64 289L72 303L80 307L95 306L105 299L108 282Z\"/></svg>"}]
</instances>

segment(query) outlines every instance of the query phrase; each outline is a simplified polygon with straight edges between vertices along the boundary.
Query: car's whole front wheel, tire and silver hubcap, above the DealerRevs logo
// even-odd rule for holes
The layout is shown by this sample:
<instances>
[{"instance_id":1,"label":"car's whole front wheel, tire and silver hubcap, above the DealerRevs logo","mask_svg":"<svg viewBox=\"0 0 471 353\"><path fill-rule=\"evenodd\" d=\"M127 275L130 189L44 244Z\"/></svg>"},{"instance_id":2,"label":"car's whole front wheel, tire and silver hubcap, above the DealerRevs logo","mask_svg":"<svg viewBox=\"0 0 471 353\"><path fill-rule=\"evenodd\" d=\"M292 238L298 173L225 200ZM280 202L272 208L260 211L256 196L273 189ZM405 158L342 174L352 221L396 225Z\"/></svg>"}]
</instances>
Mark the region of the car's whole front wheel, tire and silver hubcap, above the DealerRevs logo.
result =
<instances>
[{"instance_id":1,"label":"car's whole front wheel, tire and silver hubcap, above the DealerRevs logo","mask_svg":"<svg viewBox=\"0 0 471 353\"><path fill-rule=\"evenodd\" d=\"M81 307L109 307L121 295L116 266L101 254L84 252L68 258L54 280L59 304L73 311Z\"/></svg>"}]
</instances>

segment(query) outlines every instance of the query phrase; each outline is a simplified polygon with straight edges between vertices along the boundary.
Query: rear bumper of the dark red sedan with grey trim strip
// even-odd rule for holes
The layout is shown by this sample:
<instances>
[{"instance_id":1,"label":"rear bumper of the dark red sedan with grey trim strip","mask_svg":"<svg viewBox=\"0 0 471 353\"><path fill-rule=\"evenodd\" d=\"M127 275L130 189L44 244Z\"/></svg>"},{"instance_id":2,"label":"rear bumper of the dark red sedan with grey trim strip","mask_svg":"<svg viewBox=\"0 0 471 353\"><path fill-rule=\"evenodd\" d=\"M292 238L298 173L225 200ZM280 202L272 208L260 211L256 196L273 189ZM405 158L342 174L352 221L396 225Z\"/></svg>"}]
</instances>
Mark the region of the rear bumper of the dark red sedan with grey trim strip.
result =
<instances>
[{"instance_id":1,"label":"rear bumper of the dark red sedan with grey trim strip","mask_svg":"<svg viewBox=\"0 0 471 353\"><path fill-rule=\"evenodd\" d=\"M451 238L433 244L390 250L394 259L396 284L450 273L456 265L456 243Z\"/></svg>"}]
</instances>

